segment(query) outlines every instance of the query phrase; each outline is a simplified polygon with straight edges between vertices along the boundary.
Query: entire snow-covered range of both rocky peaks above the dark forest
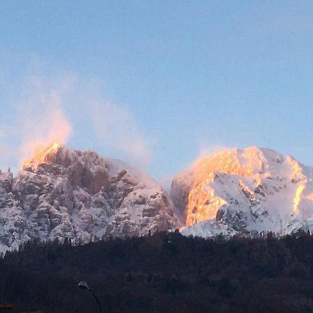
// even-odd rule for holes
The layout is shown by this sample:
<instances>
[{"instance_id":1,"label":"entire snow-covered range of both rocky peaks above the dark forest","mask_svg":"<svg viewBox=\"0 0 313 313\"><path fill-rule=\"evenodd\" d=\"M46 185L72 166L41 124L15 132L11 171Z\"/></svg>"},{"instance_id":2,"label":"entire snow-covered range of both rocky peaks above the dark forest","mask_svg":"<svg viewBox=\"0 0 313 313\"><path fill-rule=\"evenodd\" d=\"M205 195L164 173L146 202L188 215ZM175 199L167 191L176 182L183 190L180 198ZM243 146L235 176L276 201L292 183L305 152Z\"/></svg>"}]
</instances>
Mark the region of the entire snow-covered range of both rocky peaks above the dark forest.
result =
<instances>
[{"instance_id":1,"label":"entire snow-covered range of both rocky peaks above the dark forest","mask_svg":"<svg viewBox=\"0 0 313 313\"><path fill-rule=\"evenodd\" d=\"M312 231L312 179L313 168L273 150L226 150L175 177L170 200L122 161L54 143L17 177L0 171L0 252L29 239L86 243L181 226L197 236Z\"/></svg>"}]
</instances>

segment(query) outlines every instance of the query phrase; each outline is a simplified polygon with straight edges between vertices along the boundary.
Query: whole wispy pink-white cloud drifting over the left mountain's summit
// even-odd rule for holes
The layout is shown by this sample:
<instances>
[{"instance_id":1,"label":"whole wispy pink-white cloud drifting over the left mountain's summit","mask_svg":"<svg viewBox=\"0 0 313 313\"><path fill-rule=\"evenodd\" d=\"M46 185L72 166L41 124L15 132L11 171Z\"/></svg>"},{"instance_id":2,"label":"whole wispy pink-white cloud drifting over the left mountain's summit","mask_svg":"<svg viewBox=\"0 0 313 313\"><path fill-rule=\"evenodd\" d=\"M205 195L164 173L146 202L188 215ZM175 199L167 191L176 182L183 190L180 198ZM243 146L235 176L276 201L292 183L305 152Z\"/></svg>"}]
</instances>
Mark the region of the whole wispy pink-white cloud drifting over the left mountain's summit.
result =
<instances>
[{"instance_id":1,"label":"whole wispy pink-white cloud drifting over the left mountain's summit","mask_svg":"<svg viewBox=\"0 0 313 313\"><path fill-rule=\"evenodd\" d=\"M79 143L87 137L97 139L97 149L102 150L97 152L106 157L114 158L116 153L136 166L150 162L150 141L130 107L103 96L99 82L37 69L29 70L17 88L8 103L10 123L0 119L0 166L20 166L35 150L54 141L66 144L72 138Z\"/></svg>"}]
</instances>

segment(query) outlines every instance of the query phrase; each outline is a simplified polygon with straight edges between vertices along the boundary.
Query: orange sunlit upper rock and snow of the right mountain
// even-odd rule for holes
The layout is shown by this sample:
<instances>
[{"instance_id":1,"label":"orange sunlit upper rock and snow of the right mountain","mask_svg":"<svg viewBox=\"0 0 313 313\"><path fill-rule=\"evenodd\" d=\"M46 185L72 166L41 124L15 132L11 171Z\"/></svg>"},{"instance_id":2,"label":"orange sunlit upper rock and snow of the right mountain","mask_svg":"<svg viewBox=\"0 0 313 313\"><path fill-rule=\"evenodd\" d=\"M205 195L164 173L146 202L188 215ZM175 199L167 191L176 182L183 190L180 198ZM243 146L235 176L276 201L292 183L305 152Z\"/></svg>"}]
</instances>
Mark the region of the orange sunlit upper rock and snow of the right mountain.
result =
<instances>
[{"instance_id":1,"label":"orange sunlit upper rock and snow of the right mountain","mask_svg":"<svg viewBox=\"0 0 313 313\"><path fill-rule=\"evenodd\" d=\"M227 193L227 189L223 187L227 182L225 175L237 177L234 179L236 186L230 179L229 188L238 189L239 194L243 193L244 197L252 202L255 191L258 194L266 193L266 182L281 182L282 179L287 179L291 182L290 188L294 190L294 196L290 199L292 201L290 214L299 211L307 186L303 166L292 157L283 157L271 150L257 147L248 147L246 150L223 150L211 157L200 159L193 168L193 185L188 194L186 208L187 226L204 220L213 220L217 212L228 204L229 199L224 192ZM277 186L273 189L275 193L280 192ZM271 196L270 193L268 195ZM313 193L307 196L307 200L313 201Z\"/></svg>"}]
</instances>

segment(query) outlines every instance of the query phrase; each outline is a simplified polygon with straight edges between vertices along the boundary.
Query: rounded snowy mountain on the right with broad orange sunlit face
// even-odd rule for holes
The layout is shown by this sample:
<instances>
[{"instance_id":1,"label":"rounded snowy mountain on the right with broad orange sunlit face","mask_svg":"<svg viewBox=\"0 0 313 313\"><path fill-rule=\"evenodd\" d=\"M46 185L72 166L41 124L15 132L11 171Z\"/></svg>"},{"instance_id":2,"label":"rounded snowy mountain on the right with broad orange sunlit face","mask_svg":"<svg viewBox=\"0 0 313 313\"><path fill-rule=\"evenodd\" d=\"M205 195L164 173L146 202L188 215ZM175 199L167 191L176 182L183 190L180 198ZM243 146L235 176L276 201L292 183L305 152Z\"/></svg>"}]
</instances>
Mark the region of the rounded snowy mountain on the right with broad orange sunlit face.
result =
<instances>
[{"instance_id":1,"label":"rounded snowy mountain on the right with broad orange sunlit face","mask_svg":"<svg viewBox=\"0 0 313 313\"><path fill-rule=\"evenodd\" d=\"M313 168L266 148L226 150L175 177L183 234L313 230Z\"/></svg>"}]
</instances>

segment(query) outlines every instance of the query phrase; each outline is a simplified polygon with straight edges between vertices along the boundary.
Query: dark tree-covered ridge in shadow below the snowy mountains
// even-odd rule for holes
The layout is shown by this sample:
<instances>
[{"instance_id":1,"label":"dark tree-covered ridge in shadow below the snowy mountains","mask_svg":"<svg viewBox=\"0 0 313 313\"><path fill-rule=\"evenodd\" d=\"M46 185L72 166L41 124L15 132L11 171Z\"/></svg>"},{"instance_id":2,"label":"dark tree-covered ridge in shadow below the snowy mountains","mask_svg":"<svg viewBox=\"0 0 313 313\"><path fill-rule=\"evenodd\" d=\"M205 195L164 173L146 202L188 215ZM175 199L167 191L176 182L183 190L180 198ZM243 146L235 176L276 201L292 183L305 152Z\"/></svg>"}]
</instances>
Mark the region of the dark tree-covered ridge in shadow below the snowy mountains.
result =
<instances>
[{"instance_id":1,"label":"dark tree-covered ridge in shadow below the snowy mountains","mask_svg":"<svg viewBox=\"0 0 313 313\"><path fill-rule=\"evenodd\" d=\"M72 246L26 243L0 259L0 303L20 311L313 312L313 237L200 239L158 233Z\"/></svg>"}]
</instances>

